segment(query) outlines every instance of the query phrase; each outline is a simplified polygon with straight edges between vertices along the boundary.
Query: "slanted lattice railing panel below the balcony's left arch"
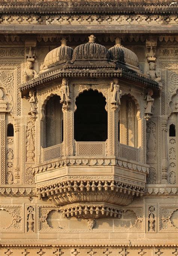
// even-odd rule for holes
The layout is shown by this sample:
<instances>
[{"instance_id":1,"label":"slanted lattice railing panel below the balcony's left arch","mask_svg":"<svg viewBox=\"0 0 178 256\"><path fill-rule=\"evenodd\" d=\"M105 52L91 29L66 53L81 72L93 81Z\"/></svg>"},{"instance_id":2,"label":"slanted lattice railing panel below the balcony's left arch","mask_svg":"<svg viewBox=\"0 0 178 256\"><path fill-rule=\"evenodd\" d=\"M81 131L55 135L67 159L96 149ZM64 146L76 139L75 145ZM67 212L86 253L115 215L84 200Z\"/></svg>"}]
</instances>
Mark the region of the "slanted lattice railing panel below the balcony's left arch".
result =
<instances>
[{"instance_id":1,"label":"slanted lattice railing panel below the balcony's left arch","mask_svg":"<svg viewBox=\"0 0 178 256\"><path fill-rule=\"evenodd\" d=\"M62 143L48 148L42 148L42 162L62 157Z\"/></svg>"}]
</instances>

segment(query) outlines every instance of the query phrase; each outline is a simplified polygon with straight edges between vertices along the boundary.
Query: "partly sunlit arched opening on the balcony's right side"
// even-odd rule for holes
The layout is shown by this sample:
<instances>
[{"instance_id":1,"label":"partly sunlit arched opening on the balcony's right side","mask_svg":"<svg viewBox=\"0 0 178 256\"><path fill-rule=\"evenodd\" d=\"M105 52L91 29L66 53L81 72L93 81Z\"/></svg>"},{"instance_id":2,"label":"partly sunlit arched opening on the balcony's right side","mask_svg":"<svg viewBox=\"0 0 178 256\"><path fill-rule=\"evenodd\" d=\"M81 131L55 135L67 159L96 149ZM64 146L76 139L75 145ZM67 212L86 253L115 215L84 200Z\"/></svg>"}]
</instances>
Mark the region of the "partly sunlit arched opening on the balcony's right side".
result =
<instances>
[{"instance_id":1,"label":"partly sunlit arched opening on the balcony's right side","mask_svg":"<svg viewBox=\"0 0 178 256\"><path fill-rule=\"evenodd\" d=\"M121 98L118 139L122 144L138 147L137 107L133 99L128 95L124 95Z\"/></svg>"}]
</instances>

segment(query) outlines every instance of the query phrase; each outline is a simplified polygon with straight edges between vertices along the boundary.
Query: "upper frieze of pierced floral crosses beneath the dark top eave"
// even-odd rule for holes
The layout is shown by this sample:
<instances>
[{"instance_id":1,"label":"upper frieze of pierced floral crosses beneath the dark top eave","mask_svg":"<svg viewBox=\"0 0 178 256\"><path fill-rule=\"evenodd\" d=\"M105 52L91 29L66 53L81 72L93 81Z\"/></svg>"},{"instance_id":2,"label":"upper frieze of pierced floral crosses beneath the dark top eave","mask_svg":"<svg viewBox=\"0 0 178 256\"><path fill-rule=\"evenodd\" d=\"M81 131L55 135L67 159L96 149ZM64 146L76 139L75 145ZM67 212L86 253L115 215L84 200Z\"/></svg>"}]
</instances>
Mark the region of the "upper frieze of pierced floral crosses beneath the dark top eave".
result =
<instances>
[{"instance_id":1,"label":"upper frieze of pierced floral crosses beneath the dark top eave","mask_svg":"<svg viewBox=\"0 0 178 256\"><path fill-rule=\"evenodd\" d=\"M113 11L114 9L112 9ZM148 9L149 10L149 9ZM177 24L176 15L3 15L0 24L45 24L45 25L128 25L128 24Z\"/></svg>"}]
</instances>

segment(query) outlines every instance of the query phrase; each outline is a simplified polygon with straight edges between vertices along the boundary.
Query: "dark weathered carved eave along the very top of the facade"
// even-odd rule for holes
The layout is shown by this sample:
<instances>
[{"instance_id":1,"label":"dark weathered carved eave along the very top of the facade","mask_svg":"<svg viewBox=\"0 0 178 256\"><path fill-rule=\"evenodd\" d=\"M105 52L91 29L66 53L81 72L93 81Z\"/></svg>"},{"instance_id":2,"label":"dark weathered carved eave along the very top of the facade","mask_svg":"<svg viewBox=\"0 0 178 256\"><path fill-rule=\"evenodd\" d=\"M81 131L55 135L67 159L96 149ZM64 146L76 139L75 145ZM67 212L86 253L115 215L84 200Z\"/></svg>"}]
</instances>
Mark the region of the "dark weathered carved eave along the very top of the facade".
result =
<instances>
[{"instance_id":1,"label":"dark weathered carved eave along the very top of the facade","mask_svg":"<svg viewBox=\"0 0 178 256\"><path fill-rule=\"evenodd\" d=\"M0 3L0 14L176 14L178 4L166 3Z\"/></svg>"}]
</instances>

